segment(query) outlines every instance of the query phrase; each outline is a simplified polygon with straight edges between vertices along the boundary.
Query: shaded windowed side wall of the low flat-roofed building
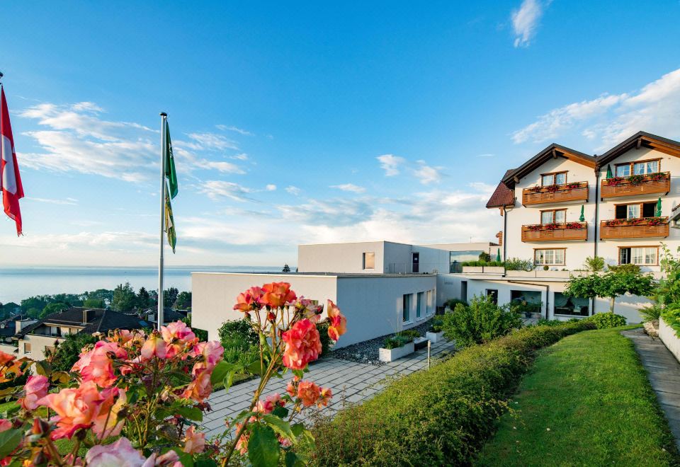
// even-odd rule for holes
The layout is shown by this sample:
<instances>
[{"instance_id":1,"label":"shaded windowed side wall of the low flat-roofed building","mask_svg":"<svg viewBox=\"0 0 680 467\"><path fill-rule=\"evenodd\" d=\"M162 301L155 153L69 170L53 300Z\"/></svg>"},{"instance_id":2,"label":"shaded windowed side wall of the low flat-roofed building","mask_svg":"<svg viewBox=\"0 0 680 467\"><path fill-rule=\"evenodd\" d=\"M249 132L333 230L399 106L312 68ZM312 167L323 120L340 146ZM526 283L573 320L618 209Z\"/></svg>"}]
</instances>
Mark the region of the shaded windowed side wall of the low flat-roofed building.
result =
<instances>
[{"instance_id":1,"label":"shaded windowed side wall of the low flat-roofed building","mask_svg":"<svg viewBox=\"0 0 680 467\"><path fill-rule=\"evenodd\" d=\"M337 304L347 316L347 333L340 338L337 347L423 323L434 313L427 316L423 308L421 317L416 318L416 294L425 292L425 303L426 292L433 291L436 294L436 282L435 275L339 277ZM408 323L402 321L404 294L413 294Z\"/></svg>"}]
</instances>

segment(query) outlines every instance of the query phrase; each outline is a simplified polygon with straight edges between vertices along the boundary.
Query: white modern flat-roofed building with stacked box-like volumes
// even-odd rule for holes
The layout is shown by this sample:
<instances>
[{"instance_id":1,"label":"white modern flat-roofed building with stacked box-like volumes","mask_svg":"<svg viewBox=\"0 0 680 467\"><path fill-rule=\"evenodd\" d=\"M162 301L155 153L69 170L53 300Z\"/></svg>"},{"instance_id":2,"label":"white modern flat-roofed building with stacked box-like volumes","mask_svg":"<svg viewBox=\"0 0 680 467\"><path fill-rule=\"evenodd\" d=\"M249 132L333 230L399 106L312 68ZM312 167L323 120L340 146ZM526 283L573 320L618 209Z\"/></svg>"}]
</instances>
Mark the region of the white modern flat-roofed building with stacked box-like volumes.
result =
<instances>
[{"instance_id":1,"label":"white modern flat-roofed building with stacked box-like volumes","mask_svg":"<svg viewBox=\"0 0 680 467\"><path fill-rule=\"evenodd\" d=\"M348 319L347 333L337 345L343 347L431 318L450 298L448 292L438 293L440 282L449 287L449 271L460 261L477 260L482 252L495 257L500 248L496 243L421 246L389 241L301 245L295 273L194 272L191 325L217 339L222 323L243 316L232 310L239 293L285 281L299 296L338 304Z\"/></svg>"}]
</instances>

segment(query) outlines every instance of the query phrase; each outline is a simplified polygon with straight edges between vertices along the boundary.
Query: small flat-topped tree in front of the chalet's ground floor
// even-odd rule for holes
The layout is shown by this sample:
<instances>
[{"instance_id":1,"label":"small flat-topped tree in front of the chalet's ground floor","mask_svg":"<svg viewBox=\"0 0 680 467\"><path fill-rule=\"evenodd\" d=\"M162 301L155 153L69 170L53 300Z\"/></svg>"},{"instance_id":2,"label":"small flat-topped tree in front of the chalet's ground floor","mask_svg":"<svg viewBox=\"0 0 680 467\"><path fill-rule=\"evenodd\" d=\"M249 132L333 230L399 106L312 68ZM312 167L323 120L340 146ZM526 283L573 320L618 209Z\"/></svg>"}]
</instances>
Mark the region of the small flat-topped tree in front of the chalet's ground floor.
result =
<instances>
[{"instance_id":1,"label":"small flat-topped tree in front of the chalet's ground floor","mask_svg":"<svg viewBox=\"0 0 680 467\"><path fill-rule=\"evenodd\" d=\"M613 313L617 296L633 294L647 296L654 289L651 275L641 272L611 271L604 275L571 277L565 288L565 295L594 299L599 296L610 299L609 311Z\"/></svg>"}]
</instances>

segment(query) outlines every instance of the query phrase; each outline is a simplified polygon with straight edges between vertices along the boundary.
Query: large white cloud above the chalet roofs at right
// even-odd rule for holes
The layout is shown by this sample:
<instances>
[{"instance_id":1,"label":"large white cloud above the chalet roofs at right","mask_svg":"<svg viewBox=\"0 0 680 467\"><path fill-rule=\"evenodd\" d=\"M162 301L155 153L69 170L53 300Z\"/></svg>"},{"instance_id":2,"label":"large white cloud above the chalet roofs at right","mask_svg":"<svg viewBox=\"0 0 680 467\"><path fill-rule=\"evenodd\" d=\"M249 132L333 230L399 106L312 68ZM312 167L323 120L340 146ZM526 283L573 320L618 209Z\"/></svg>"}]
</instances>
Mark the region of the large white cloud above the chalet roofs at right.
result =
<instances>
[{"instance_id":1,"label":"large white cloud above the chalet roofs at right","mask_svg":"<svg viewBox=\"0 0 680 467\"><path fill-rule=\"evenodd\" d=\"M647 83L639 91L605 94L564 105L512 134L515 143L545 142L577 132L603 151L643 130L677 137L680 129L680 69Z\"/></svg>"}]
</instances>

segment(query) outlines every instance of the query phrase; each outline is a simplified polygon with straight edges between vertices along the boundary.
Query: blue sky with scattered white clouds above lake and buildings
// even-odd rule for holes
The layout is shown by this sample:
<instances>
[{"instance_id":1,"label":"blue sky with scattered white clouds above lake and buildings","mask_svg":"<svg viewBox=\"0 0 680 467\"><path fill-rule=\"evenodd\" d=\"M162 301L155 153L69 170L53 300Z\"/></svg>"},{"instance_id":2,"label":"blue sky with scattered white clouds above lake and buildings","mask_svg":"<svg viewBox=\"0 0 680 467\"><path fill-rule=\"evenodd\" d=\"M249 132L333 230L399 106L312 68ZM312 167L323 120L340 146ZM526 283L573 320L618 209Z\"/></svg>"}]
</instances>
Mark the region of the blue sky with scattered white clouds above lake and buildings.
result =
<instances>
[{"instance_id":1,"label":"blue sky with scattered white clouds above lake and buildings","mask_svg":"<svg viewBox=\"0 0 680 467\"><path fill-rule=\"evenodd\" d=\"M298 243L492 241L484 204L550 142L680 138L680 4L6 0L25 236L0 267L280 265Z\"/></svg>"}]
</instances>

